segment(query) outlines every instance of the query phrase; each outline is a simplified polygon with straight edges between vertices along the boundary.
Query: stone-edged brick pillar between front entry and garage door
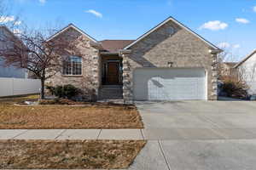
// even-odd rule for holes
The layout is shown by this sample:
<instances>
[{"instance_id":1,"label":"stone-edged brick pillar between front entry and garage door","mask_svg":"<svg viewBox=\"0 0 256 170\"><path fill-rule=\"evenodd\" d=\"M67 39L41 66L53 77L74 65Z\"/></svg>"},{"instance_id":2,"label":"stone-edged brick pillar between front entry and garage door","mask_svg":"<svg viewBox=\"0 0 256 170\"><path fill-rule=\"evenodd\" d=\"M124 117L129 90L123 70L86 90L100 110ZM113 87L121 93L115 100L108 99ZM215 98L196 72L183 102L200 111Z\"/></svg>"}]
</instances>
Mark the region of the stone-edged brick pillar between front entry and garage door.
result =
<instances>
[{"instance_id":1,"label":"stone-edged brick pillar between front entry and garage door","mask_svg":"<svg viewBox=\"0 0 256 170\"><path fill-rule=\"evenodd\" d=\"M119 55L123 58L123 99L125 103L131 103L132 96L132 71L129 62L131 50L120 50Z\"/></svg>"}]
</instances>

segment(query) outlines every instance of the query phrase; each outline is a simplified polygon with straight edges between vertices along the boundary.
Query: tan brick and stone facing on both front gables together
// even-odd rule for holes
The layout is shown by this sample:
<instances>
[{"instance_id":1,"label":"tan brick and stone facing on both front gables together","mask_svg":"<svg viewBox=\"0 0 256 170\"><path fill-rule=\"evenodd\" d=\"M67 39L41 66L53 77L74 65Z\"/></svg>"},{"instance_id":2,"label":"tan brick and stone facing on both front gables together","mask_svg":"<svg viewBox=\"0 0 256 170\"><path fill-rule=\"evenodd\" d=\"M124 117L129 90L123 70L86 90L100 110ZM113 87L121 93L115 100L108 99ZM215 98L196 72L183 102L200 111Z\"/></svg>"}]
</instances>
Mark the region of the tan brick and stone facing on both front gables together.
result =
<instances>
[{"instance_id":1,"label":"tan brick and stone facing on both front gables together","mask_svg":"<svg viewBox=\"0 0 256 170\"><path fill-rule=\"evenodd\" d=\"M82 57L82 76L64 76L61 71L47 80L56 86L73 84L82 89L82 99L95 100L101 87L101 57L99 50L92 47L90 38L69 28L65 34L76 37L79 56ZM123 58L123 98L133 100L133 71L139 67L167 68L173 62L176 68L204 68L207 71L207 99L217 99L217 54L212 48L191 32L170 20L165 25L144 37L127 50L119 50ZM74 52L75 55L75 52Z\"/></svg>"}]
</instances>

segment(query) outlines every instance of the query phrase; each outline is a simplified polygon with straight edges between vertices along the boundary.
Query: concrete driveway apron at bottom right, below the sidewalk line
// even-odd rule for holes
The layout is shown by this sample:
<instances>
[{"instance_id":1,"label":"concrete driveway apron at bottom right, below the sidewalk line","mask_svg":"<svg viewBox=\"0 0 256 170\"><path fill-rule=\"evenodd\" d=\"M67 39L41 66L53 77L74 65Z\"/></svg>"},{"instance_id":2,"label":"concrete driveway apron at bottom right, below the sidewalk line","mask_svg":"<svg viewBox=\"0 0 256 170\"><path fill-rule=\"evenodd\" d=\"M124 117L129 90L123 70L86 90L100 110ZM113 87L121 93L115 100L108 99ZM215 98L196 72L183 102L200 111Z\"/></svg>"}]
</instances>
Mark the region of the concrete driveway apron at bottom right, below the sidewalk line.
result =
<instances>
[{"instance_id":1,"label":"concrete driveway apron at bottom right, below the sidewalk line","mask_svg":"<svg viewBox=\"0 0 256 170\"><path fill-rule=\"evenodd\" d=\"M149 140L128 170L255 170L256 139Z\"/></svg>"}]
</instances>

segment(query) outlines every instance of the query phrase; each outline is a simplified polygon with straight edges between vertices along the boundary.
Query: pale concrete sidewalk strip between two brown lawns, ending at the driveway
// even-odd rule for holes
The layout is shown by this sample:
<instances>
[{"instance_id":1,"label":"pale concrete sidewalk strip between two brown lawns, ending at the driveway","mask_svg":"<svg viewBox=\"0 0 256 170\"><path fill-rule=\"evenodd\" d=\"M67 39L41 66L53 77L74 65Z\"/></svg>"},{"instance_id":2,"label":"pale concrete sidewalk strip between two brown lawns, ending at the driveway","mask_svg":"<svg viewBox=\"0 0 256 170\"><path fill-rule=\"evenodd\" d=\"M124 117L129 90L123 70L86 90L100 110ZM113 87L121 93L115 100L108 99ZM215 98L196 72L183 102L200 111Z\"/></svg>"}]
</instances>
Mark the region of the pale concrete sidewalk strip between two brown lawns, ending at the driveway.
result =
<instances>
[{"instance_id":1,"label":"pale concrete sidewalk strip between two brown lawns, ending at the driveway","mask_svg":"<svg viewBox=\"0 0 256 170\"><path fill-rule=\"evenodd\" d=\"M135 139L143 140L142 129L8 129L0 139Z\"/></svg>"}]
</instances>

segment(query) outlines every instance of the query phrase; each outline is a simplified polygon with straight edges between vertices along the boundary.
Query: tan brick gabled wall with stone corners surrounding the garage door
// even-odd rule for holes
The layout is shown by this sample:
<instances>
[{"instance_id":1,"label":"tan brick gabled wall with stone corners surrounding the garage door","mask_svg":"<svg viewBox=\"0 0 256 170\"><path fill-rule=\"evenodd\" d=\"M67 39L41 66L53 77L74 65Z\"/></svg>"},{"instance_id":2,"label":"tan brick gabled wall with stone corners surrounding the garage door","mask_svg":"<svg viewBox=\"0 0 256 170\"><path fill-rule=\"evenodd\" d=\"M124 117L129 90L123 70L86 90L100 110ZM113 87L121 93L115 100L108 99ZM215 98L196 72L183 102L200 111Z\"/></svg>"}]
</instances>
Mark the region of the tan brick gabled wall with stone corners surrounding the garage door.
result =
<instances>
[{"instance_id":1,"label":"tan brick gabled wall with stone corners surrounding the garage door","mask_svg":"<svg viewBox=\"0 0 256 170\"><path fill-rule=\"evenodd\" d=\"M123 57L123 97L133 99L132 76L139 67L204 68L207 71L207 99L217 99L217 54L191 32L172 21L135 43L130 50L120 51Z\"/></svg>"}]
</instances>

